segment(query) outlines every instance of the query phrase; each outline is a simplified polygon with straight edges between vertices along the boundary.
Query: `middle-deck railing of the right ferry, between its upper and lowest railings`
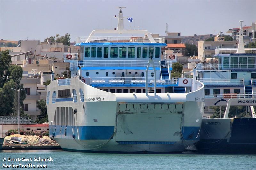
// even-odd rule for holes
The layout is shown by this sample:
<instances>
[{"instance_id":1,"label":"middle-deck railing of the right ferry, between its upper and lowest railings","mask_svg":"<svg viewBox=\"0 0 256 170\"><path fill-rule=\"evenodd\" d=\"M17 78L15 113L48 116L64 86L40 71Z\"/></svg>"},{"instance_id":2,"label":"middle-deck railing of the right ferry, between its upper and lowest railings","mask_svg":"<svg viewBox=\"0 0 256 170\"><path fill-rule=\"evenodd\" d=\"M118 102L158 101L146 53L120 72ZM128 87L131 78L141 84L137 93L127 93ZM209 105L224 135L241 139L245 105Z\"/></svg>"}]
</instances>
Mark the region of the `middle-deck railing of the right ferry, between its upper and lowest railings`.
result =
<instances>
[{"instance_id":1,"label":"middle-deck railing of the right ferry, between its upper and lowest railings","mask_svg":"<svg viewBox=\"0 0 256 170\"><path fill-rule=\"evenodd\" d=\"M244 85L244 78L198 78L204 85Z\"/></svg>"}]
</instances>

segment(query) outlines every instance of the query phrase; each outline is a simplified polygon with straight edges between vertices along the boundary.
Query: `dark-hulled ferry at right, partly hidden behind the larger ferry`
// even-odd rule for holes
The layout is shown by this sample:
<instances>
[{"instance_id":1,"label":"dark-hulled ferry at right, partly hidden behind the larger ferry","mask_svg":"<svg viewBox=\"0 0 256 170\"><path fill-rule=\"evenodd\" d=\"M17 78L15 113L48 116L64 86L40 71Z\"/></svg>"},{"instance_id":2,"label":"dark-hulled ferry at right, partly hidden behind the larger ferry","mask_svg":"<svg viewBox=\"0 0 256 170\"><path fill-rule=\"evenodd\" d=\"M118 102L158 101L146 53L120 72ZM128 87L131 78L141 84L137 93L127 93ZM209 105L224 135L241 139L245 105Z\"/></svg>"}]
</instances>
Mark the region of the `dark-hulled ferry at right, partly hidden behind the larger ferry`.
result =
<instances>
[{"instance_id":1,"label":"dark-hulled ferry at right, partly hidden behind the larger ferry","mask_svg":"<svg viewBox=\"0 0 256 170\"><path fill-rule=\"evenodd\" d=\"M220 111L220 118L203 119L196 144L200 152L256 153L256 48L244 48L240 22L237 48L216 49L218 63L196 64L198 80L205 85L204 117L210 106L226 106L223 117ZM251 118L236 118L236 113L229 112L230 106L247 106Z\"/></svg>"}]
</instances>

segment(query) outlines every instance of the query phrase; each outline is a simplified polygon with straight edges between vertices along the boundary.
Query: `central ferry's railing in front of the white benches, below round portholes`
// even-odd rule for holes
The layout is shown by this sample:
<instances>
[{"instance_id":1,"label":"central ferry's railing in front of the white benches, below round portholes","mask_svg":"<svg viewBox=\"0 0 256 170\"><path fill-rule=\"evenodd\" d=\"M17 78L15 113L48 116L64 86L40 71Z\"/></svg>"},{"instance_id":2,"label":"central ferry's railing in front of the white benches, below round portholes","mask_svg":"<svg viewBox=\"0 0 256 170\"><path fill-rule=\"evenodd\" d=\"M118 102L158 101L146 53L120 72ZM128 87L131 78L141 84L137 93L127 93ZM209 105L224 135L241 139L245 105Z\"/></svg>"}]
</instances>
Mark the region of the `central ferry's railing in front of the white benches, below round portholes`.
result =
<instances>
[{"instance_id":1,"label":"central ferry's railing in front of the white benches, below round portholes","mask_svg":"<svg viewBox=\"0 0 256 170\"><path fill-rule=\"evenodd\" d=\"M179 78L156 78L156 84L176 85ZM145 78L141 77L94 77L90 78L90 84L145 84ZM154 77L148 78L148 84L154 84Z\"/></svg>"}]
</instances>

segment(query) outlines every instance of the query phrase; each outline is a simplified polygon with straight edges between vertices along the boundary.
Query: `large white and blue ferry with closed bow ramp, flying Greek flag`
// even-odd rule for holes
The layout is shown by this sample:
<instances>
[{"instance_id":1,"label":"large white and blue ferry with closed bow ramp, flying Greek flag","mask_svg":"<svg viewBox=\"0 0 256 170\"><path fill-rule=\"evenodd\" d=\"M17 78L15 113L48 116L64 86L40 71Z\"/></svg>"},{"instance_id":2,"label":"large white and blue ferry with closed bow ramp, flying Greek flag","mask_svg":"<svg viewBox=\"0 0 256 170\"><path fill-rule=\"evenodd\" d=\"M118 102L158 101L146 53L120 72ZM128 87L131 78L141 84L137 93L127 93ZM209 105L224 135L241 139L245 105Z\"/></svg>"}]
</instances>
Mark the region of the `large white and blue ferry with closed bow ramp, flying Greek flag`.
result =
<instances>
[{"instance_id":1,"label":"large white and blue ferry with closed bow ramp, flying Greek flag","mask_svg":"<svg viewBox=\"0 0 256 170\"><path fill-rule=\"evenodd\" d=\"M175 55L161 61L165 38L125 30L124 7L117 8L117 29L78 37L79 53L64 55L72 78L52 74L50 137L67 151L182 152L199 140L204 84L196 70L193 78L171 78Z\"/></svg>"}]
</instances>

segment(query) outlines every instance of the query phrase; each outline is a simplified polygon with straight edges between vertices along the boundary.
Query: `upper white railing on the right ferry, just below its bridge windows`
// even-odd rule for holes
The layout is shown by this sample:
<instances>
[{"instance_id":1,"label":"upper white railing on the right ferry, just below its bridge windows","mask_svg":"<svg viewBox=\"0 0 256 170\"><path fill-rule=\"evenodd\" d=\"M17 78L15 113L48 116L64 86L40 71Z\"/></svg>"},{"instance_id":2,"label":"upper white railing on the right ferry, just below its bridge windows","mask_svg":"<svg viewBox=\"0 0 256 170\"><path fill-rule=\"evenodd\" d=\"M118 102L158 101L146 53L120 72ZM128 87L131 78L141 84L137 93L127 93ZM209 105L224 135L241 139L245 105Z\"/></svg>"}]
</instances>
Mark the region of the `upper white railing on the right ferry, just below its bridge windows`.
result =
<instances>
[{"instance_id":1,"label":"upper white railing on the right ferry, just below its bridge windows","mask_svg":"<svg viewBox=\"0 0 256 170\"><path fill-rule=\"evenodd\" d=\"M198 63L198 70L256 69L256 63Z\"/></svg>"}]
</instances>

